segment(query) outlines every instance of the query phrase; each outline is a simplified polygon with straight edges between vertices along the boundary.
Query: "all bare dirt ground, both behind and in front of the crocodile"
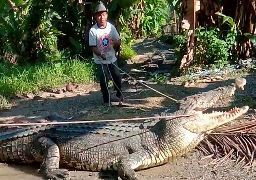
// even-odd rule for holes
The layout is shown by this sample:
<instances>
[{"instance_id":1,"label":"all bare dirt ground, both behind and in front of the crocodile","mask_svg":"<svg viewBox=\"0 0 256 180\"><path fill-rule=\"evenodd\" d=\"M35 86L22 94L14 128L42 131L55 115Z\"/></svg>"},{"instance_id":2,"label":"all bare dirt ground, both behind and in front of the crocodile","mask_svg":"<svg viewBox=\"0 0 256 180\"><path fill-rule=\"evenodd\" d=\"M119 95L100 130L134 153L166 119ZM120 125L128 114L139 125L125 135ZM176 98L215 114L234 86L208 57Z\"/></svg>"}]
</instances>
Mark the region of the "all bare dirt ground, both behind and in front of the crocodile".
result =
<instances>
[{"instance_id":1,"label":"all bare dirt ground, both behind and in front of the crocodile","mask_svg":"<svg viewBox=\"0 0 256 180\"><path fill-rule=\"evenodd\" d=\"M245 76L247 85L244 91L236 91L234 98L223 100L216 107L226 111L233 106L249 105L248 113L256 108L256 76ZM215 89L219 86L230 85L234 78L225 80L195 83L190 87L184 87L178 78L171 79L165 84L154 84L148 82L150 87L165 93L176 100L185 96ZM46 117L53 112L67 118L76 120L95 119L119 119L130 117L149 117L159 113L166 108L174 107L175 102L148 90L142 85L134 83L133 80L123 77L122 91L125 102L122 106L110 107L102 105L102 95L99 84L78 86L74 92L63 92L62 89L53 89L51 92L42 92L37 95L28 94L16 97L11 101L9 109L0 111L0 119L13 119L28 116ZM114 95L111 87L111 94ZM104 114L102 114L104 113ZM230 165L224 167L205 166L211 158L194 150L186 156L172 163L160 167L138 171L142 180L251 180L255 179L254 169L234 169ZM6 165L0 164L0 180L42 180L37 173L38 165ZM104 179L97 172L72 171L72 180L98 180Z\"/></svg>"}]
</instances>

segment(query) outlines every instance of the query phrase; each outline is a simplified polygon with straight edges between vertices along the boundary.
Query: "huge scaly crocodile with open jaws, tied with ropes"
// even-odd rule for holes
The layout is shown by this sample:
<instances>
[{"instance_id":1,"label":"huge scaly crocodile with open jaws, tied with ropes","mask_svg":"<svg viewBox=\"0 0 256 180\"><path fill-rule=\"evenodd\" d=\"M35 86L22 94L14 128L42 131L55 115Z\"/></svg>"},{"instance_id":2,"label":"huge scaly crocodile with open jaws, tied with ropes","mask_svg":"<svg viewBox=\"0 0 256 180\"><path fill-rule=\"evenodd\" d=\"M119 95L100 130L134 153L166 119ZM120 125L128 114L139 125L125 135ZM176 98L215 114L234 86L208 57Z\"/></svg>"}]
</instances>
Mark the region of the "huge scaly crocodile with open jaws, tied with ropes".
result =
<instances>
[{"instance_id":1,"label":"huge scaly crocodile with open jaws, tied with ropes","mask_svg":"<svg viewBox=\"0 0 256 180\"><path fill-rule=\"evenodd\" d=\"M135 170L179 158L200 143L210 130L246 113L248 106L209 114L197 111L232 96L239 88L243 89L236 83L181 100L176 114L194 113L190 116L136 123L12 124L0 128L0 162L39 162L45 179L69 180L67 169L74 168L114 170L123 180L137 180Z\"/></svg>"}]
</instances>

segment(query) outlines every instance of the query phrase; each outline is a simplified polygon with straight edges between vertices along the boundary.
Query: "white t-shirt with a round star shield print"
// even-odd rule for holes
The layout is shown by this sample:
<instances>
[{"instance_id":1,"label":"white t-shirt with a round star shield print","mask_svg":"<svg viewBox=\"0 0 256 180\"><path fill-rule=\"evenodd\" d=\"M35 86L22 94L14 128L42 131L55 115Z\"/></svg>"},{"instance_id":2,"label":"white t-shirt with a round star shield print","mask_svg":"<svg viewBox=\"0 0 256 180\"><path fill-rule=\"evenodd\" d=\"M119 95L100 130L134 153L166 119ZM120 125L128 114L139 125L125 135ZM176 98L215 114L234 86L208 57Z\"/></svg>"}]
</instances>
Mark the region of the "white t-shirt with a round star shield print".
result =
<instances>
[{"instance_id":1,"label":"white t-shirt with a round star shield print","mask_svg":"<svg viewBox=\"0 0 256 180\"><path fill-rule=\"evenodd\" d=\"M97 23L91 27L89 31L89 46L97 46L100 52L103 52L106 55L106 60L102 60L93 53L94 62L96 64L110 64L117 60L115 50L111 45L111 39L121 39L115 26L111 23L106 22L106 27L104 29L100 29Z\"/></svg>"}]
</instances>

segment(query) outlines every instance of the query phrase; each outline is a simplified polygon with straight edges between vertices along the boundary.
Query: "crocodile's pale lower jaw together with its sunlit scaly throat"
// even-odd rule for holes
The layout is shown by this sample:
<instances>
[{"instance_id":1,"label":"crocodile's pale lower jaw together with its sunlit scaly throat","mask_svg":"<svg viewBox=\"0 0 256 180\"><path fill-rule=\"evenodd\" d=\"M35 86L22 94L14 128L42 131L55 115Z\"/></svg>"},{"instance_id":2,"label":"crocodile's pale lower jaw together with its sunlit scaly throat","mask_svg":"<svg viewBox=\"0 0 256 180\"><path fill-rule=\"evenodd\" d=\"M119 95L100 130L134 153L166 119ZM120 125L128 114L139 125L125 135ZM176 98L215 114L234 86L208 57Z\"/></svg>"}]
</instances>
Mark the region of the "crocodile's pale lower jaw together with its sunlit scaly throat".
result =
<instances>
[{"instance_id":1,"label":"crocodile's pale lower jaw together with its sunlit scaly throat","mask_svg":"<svg viewBox=\"0 0 256 180\"><path fill-rule=\"evenodd\" d=\"M163 141L170 151L166 151L171 160L175 160L182 154L189 152L195 148L212 130L226 124L248 111L248 106L240 108L232 108L228 112L213 112L208 114L191 114L188 116L176 117L167 121L159 121L163 123L164 131L162 135ZM166 123L166 124L164 124ZM159 133L159 128L156 129ZM160 137L159 135L159 137Z\"/></svg>"}]
</instances>

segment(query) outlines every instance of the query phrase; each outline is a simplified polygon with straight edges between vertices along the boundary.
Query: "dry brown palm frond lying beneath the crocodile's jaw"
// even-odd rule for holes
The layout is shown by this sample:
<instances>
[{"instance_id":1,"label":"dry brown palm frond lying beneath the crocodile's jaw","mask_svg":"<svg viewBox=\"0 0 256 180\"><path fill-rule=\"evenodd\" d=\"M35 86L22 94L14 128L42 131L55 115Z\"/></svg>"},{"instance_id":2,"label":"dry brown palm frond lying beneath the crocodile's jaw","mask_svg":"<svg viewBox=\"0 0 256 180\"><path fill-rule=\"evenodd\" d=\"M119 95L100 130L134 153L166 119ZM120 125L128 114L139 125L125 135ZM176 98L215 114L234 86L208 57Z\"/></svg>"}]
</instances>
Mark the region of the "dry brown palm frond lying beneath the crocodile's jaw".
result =
<instances>
[{"instance_id":1,"label":"dry brown palm frond lying beneath the crocodile's jaw","mask_svg":"<svg viewBox=\"0 0 256 180\"><path fill-rule=\"evenodd\" d=\"M234 166L243 163L241 168L252 168L256 165L256 121L217 128L197 149L215 158L208 165L234 162Z\"/></svg>"}]
</instances>

